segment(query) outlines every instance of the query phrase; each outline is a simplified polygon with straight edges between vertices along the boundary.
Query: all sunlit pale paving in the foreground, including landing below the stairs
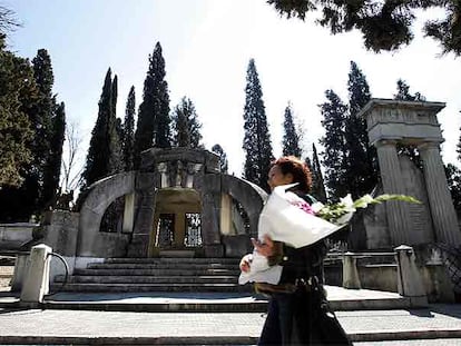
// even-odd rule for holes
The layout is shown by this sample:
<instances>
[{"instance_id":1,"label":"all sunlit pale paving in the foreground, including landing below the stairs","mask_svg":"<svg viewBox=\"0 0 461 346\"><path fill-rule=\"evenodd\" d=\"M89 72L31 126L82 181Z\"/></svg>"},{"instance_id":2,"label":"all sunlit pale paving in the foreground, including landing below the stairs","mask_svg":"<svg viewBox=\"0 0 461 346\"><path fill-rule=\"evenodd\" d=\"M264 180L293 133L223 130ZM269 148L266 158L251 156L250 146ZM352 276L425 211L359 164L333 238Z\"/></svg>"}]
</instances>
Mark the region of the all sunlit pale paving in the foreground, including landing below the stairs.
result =
<instances>
[{"instance_id":1,"label":"all sunlit pale paving in the foreground, including landing below the stairs","mask_svg":"<svg viewBox=\"0 0 461 346\"><path fill-rule=\"evenodd\" d=\"M398 303L398 295L327 287L336 316L355 345L461 345L461 305L430 305L422 309L370 309L380 298ZM393 296L395 295L395 296ZM369 300L369 301L366 301ZM16 345L254 345L265 314L197 308L200 304L245 306L265 300L236 294L57 294L47 309L18 306L11 293L0 296L0 344ZM342 305L349 301L349 305ZM354 303L355 301L355 303ZM68 305L66 305L68 304ZM88 305L94 304L88 308ZM95 305L95 304L99 304ZM117 306L117 304L119 306ZM157 309L155 306L195 306L195 309ZM87 306L87 307L85 307ZM114 310L98 310L116 306ZM361 306L369 306L362 309ZM79 309L80 307L80 309ZM150 307L150 308L149 308ZM154 307L154 308L153 308ZM59 308L59 309L57 309ZM68 309L73 308L73 309ZM76 309L77 308L77 309ZM81 309L86 308L86 309ZM149 310L150 312L146 312ZM405 340L405 342L402 342ZM410 342L414 343L411 344ZM390 344L380 344L380 343ZM416 343L418 342L418 343ZM396 343L396 344L392 344ZM410 343L410 344L406 344ZM416 343L416 344L415 344Z\"/></svg>"}]
</instances>

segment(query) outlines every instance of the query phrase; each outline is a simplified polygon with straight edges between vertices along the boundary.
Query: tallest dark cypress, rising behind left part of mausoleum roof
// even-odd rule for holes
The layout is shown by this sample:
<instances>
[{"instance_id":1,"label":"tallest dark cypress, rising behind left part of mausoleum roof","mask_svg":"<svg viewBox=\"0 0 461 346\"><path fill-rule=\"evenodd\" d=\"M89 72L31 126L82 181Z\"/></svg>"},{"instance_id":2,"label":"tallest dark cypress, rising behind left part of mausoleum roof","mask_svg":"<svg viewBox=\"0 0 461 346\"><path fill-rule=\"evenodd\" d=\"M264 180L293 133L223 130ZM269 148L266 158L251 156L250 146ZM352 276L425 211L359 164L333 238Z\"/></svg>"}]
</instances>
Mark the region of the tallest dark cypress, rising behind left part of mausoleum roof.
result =
<instances>
[{"instance_id":1,"label":"tallest dark cypress, rising behind left part of mausoleum roof","mask_svg":"<svg viewBox=\"0 0 461 346\"><path fill-rule=\"evenodd\" d=\"M135 168L140 152L150 147L171 146L168 85L165 80L165 60L159 42L149 56L149 68L144 81L143 102L139 106L135 132Z\"/></svg>"}]
</instances>

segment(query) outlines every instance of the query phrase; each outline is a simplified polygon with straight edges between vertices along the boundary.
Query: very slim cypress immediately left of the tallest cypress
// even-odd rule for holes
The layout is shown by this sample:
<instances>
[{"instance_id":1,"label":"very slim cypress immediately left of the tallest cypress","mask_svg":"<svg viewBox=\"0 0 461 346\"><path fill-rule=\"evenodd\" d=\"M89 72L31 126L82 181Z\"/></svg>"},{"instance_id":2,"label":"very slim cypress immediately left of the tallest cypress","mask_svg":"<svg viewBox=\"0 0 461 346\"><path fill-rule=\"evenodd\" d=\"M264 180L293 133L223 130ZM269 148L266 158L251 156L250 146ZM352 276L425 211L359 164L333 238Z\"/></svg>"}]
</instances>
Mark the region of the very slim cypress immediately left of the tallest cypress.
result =
<instances>
[{"instance_id":1,"label":"very slim cypress immediately left of the tallest cypress","mask_svg":"<svg viewBox=\"0 0 461 346\"><path fill-rule=\"evenodd\" d=\"M129 89L127 106L125 109L124 121L124 137L121 140L124 151L124 166L125 170L134 169L134 155L135 155L135 112L136 112L136 95L135 87Z\"/></svg>"}]
</instances>

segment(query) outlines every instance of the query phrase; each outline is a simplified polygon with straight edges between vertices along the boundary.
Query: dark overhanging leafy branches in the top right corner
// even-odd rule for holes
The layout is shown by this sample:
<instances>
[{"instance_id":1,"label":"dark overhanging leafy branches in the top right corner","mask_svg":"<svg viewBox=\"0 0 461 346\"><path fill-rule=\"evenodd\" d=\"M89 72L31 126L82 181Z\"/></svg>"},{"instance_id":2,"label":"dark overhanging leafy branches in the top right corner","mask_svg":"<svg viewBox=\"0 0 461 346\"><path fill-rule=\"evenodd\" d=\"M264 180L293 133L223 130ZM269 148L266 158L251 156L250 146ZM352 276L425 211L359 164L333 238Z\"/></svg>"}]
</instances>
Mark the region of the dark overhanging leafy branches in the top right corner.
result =
<instances>
[{"instance_id":1,"label":"dark overhanging leafy branches in the top right corner","mask_svg":"<svg viewBox=\"0 0 461 346\"><path fill-rule=\"evenodd\" d=\"M332 34L354 29L362 31L364 45L375 52L396 50L413 40L415 11L440 8L445 17L425 22L426 37L439 41L444 53L461 55L461 4L458 0L267 0L287 18L305 19L307 12L321 13L316 20Z\"/></svg>"}]
</instances>

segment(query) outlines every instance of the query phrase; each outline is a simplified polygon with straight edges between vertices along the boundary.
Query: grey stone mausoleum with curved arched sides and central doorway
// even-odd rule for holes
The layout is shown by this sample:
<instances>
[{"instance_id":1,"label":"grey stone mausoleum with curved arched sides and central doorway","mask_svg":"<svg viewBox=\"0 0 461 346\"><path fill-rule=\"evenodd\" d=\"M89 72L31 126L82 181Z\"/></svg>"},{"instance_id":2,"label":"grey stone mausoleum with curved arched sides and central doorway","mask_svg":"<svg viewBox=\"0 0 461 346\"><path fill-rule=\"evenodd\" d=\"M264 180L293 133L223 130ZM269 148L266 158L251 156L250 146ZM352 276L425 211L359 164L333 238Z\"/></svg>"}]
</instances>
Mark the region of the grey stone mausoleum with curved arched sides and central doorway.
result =
<instances>
[{"instance_id":1,"label":"grey stone mausoleum with curved arched sides and central doorway","mask_svg":"<svg viewBox=\"0 0 461 346\"><path fill-rule=\"evenodd\" d=\"M90 186L78 212L51 212L45 243L76 267L107 257L239 257L251 251L266 197L219 172L213 152L153 148L138 171ZM118 221L104 229L109 210Z\"/></svg>"}]
</instances>

